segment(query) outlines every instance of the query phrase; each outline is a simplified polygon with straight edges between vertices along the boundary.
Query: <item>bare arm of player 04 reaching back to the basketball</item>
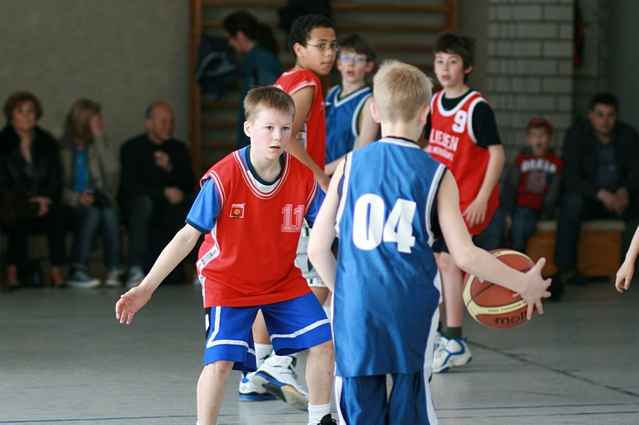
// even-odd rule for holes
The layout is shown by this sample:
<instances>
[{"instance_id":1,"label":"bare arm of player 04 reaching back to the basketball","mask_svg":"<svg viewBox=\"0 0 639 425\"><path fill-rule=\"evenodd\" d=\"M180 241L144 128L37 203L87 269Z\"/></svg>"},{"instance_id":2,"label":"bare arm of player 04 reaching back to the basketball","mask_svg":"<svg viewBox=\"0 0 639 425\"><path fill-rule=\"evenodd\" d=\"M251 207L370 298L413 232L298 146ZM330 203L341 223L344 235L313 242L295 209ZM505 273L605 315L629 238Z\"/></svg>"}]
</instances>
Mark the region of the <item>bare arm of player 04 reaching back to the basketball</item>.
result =
<instances>
[{"instance_id":1,"label":"bare arm of player 04 reaching back to the basketball","mask_svg":"<svg viewBox=\"0 0 639 425\"><path fill-rule=\"evenodd\" d=\"M539 260L527 273L522 273L476 247L459 211L457 184L449 171L446 171L437 194L437 218L446 245L459 268L520 294L528 304L528 319L532 318L534 308L543 314L541 300L550 296L547 290L550 279L544 280L541 276L545 259Z\"/></svg>"}]
</instances>

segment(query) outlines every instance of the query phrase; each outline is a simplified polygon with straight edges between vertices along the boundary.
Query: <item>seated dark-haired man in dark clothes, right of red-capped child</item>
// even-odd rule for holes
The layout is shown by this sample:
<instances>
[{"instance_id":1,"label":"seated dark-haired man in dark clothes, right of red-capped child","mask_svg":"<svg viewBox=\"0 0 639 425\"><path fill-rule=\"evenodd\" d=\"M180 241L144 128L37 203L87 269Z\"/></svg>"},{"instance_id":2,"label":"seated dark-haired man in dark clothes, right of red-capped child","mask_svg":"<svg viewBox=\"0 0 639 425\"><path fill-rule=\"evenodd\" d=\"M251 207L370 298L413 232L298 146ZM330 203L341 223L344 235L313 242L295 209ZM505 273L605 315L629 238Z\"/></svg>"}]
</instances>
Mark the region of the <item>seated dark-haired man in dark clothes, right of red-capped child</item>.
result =
<instances>
[{"instance_id":1,"label":"seated dark-haired man in dark clothes, right of red-capped child","mask_svg":"<svg viewBox=\"0 0 639 425\"><path fill-rule=\"evenodd\" d=\"M577 276L577 243L581 223L587 219L634 221L639 206L639 137L617 119L614 95L593 97L588 119L566 133L561 209L555 245L559 274L553 295L566 283L581 283Z\"/></svg>"}]
</instances>

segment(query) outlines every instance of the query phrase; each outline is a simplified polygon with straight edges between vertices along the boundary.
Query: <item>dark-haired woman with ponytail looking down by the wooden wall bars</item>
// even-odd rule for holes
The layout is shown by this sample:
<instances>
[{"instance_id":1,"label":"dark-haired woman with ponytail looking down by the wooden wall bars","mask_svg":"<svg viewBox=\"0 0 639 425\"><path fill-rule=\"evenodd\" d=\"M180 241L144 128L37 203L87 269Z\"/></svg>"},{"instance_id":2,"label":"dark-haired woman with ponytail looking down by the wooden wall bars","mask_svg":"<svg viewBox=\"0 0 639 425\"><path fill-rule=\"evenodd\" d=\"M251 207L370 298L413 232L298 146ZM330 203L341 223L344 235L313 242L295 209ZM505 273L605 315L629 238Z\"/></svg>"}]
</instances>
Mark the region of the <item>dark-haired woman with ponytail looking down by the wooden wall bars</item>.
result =
<instances>
[{"instance_id":1,"label":"dark-haired woman with ponytail looking down by the wooden wall bars","mask_svg":"<svg viewBox=\"0 0 639 425\"><path fill-rule=\"evenodd\" d=\"M273 31L249 12L233 12L224 18L229 44L240 55L240 99L254 87L269 86L282 73L277 59L277 41ZM237 147L249 144L244 134L244 105L240 103L236 130Z\"/></svg>"}]
</instances>

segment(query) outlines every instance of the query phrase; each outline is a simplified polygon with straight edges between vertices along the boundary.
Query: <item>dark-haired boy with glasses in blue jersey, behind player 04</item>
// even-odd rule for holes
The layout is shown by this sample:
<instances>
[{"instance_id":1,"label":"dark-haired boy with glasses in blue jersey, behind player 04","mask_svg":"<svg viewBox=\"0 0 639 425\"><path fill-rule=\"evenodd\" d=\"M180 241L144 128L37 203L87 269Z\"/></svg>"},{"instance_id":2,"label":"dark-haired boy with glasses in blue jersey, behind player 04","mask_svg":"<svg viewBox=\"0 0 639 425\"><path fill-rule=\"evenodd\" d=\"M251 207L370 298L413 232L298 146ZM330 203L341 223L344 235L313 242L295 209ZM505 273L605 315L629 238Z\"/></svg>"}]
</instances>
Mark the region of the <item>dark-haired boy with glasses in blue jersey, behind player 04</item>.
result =
<instances>
[{"instance_id":1,"label":"dark-haired boy with glasses in blue jersey, behind player 04","mask_svg":"<svg viewBox=\"0 0 639 425\"><path fill-rule=\"evenodd\" d=\"M371 117L373 90L368 79L375 69L375 52L357 34L339 41L337 69L342 83L326 94L326 165L331 175L354 148L366 146L378 136L379 124Z\"/></svg>"}]
</instances>

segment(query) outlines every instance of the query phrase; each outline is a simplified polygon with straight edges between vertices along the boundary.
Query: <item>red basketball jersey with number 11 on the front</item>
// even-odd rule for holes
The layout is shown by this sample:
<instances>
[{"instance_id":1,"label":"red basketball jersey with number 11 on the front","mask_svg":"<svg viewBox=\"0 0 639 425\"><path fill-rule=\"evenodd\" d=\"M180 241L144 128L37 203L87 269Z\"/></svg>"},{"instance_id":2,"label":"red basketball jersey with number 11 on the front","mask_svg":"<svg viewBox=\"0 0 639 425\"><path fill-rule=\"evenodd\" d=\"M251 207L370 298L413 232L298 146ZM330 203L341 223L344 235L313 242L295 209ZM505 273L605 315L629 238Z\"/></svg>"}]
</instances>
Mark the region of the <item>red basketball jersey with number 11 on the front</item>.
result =
<instances>
[{"instance_id":1,"label":"red basketball jersey with number 11 on the front","mask_svg":"<svg viewBox=\"0 0 639 425\"><path fill-rule=\"evenodd\" d=\"M260 190L236 151L202 178L213 179L220 210L198 254L204 306L243 307L289 300L310 291L295 253L317 185L312 172L286 155L282 177Z\"/></svg>"}]
</instances>

